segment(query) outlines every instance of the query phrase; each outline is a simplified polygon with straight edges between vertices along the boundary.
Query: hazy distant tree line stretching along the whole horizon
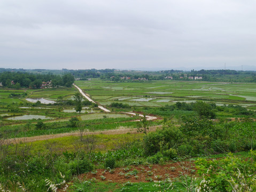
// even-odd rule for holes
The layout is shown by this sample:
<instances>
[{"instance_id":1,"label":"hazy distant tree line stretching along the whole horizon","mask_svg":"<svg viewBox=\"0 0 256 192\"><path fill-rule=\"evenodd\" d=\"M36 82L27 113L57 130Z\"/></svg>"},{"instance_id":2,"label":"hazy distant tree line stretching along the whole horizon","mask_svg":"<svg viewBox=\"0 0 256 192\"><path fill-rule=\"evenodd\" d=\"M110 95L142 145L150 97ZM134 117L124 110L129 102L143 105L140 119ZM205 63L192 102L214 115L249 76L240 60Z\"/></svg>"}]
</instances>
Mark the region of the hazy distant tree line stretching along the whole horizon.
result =
<instances>
[{"instance_id":1,"label":"hazy distant tree line stretching along the whole horizon","mask_svg":"<svg viewBox=\"0 0 256 192\"><path fill-rule=\"evenodd\" d=\"M193 81L188 77L202 77L202 79L197 79L196 81L211 81L211 82L256 82L256 71L237 71L237 70L191 70L191 71L183 71L183 70L161 70L161 71L135 71L135 70L115 70L115 69L86 69L86 70L70 70L70 69L61 69L61 70L46 70L46 69L4 69L0 68L1 73L11 73L14 71L16 73L26 74L28 73L30 76L39 76L39 79L49 79L50 75L54 76L56 81L53 83L66 86L64 83L61 83L61 75L71 74L77 79L80 80L88 80L89 78L100 78L106 81L114 81L114 82L123 82L123 81L150 81L150 80L168 80L170 81L170 77L173 80L178 81ZM41 75L41 76L40 76ZM60 75L60 76L59 76ZM31 79L28 77L32 82ZM28 80L28 79L26 79ZM25 79L24 79L25 81ZM3 82L3 81L2 81ZM28 81L23 83L27 86L29 84ZM38 84L37 84L38 85ZM68 85L68 84L67 84ZM71 85L69 83L69 85Z\"/></svg>"}]
</instances>

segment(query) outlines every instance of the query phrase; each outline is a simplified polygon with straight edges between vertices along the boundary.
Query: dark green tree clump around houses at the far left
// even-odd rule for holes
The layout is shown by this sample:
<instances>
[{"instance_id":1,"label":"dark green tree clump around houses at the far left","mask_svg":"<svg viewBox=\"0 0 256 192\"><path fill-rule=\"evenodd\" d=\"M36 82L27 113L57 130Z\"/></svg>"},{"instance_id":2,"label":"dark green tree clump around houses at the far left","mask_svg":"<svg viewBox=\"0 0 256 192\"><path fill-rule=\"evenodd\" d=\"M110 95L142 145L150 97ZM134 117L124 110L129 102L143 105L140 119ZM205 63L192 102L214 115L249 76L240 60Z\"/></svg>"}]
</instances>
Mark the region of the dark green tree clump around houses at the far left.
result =
<instances>
[{"instance_id":1,"label":"dark green tree clump around houses at the far left","mask_svg":"<svg viewBox=\"0 0 256 192\"><path fill-rule=\"evenodd\" d=\"M42 86L43 82L51 82L49 86L66 86L71 87L74 83L74 76L70 73L67 73L63 76L48 74L32 74L24 72L11 72L5 71L0 73L0 82L3 86L9 88L32 88L38 89Z\"/></svg>"}]
</instances>

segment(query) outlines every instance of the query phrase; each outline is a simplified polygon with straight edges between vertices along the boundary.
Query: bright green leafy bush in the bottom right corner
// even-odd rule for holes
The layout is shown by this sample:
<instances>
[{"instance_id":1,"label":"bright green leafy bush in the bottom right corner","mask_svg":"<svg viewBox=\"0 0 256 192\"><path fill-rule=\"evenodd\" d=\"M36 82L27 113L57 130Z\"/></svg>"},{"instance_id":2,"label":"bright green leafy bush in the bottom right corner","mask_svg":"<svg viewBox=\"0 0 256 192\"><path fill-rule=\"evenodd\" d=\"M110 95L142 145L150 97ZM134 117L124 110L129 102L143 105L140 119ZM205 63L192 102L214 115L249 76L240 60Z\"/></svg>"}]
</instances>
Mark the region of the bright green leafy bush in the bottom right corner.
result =
<instances>
[{"instance_id":1,"label":"bright green leafy bush in the bottom right corner","mask_svg":"<svg viewBox=\"0 0 256 192\"><path fill-rule=\"evenodd\" d=\"M256 153L250 151L250 159L235 157L231 153L218 160L198 159L195 164L199 181L197 191L255 191Z\"/></svg>"}]
</instances>

